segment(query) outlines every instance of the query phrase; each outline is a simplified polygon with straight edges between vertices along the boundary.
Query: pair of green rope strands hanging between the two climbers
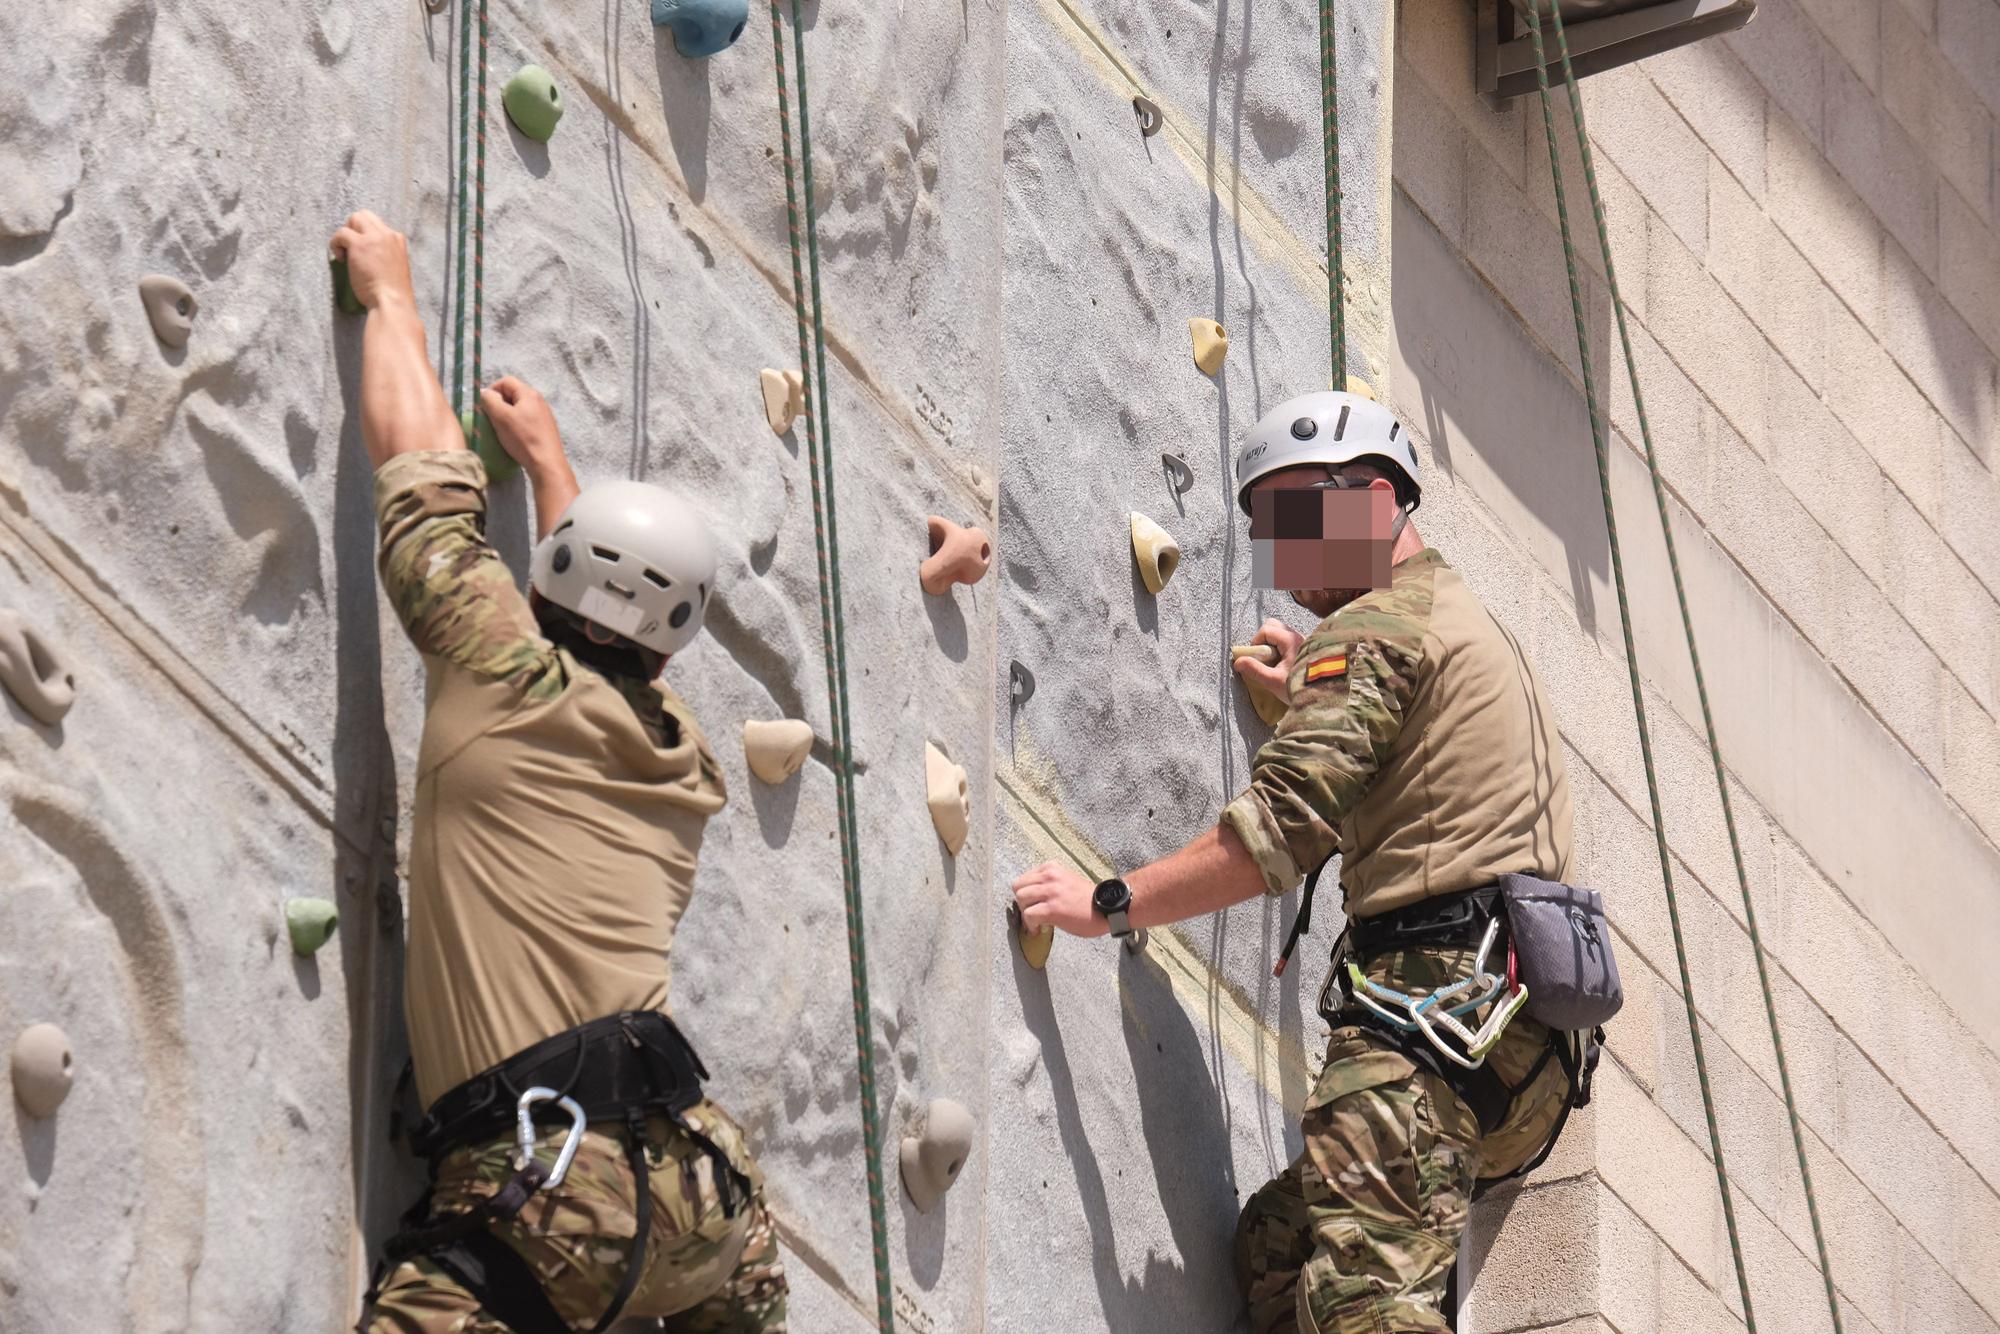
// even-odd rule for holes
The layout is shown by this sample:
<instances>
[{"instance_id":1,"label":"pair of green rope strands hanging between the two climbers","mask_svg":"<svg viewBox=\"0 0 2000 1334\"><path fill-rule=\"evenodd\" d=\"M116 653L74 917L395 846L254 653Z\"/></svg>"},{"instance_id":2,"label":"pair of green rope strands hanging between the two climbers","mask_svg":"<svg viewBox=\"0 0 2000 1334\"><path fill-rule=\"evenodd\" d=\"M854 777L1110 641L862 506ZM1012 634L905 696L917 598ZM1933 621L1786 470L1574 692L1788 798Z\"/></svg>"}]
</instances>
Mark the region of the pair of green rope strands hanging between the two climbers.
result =
<instances>
[{"instance_id":1,"label":"pair of green rope strands hanging between the two climbers","mask_svg":"<svg viewBox=\"0 0 2000 1334\"><path fill-rule=\"evenodd\" d=\"M784 212L792 240L792 308L798 316L798 360L806 380L806 470L812 480L812 546L820 568L820 636L826 656L826 712L834 732L834 808L840 826L840 886L848 912L848 974L854 990L854 1052L862 1096L862 1150L868 1162L868 1226L874 1238L876 1320L896 1328L888 1274L888 1214L882 1198L882 1132L876 1124L874 1026L868 1006L868 948L862 930L860 836L854 824L854 744L848 710L846 624L840 614L840 528L834 508L834 432L826 410L826 326L820 318L820 232L812 202L812 112L806 102L806 28L792 0L794 64L798 66L798 160L804 168L804 252L812 292L812 340L806 332L806 272L800 268L800 188L792 166L792 112L784 80L782 0L770 0L770 38L778 62L778 128L784 140ZM814 406L818 416L814 416ZM824 496L822 496L824 492Z\"/></svg>"}]
</instances>

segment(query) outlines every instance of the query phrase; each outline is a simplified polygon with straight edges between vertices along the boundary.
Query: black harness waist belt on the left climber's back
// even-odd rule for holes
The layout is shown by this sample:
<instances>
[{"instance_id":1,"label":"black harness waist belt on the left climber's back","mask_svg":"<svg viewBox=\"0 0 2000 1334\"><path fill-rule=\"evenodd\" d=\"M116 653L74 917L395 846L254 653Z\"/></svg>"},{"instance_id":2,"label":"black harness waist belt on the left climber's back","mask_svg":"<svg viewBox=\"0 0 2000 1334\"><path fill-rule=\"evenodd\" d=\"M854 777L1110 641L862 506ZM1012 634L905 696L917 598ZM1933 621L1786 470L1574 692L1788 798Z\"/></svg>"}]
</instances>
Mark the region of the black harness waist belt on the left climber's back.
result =
<instances>
[{"instance_id":1,"label":"black harness waist belt on the left climber's back","mask_svg":"<svg viewBox=\"0 0 2000 1334\"><path fill-rule=\"evenodd\" d=\"M708 1068L674 1020L624 1010L544 1038L438 1098L410 1132L410 1148L436 1162L454 1148L512 1134L522 1092L554 1088L576 1098L592 1122L624 1122L632 1110L680 1116L702 1100ZM536 1106L550 1120L554 1100Z\"/></svg>"}]
</instances>

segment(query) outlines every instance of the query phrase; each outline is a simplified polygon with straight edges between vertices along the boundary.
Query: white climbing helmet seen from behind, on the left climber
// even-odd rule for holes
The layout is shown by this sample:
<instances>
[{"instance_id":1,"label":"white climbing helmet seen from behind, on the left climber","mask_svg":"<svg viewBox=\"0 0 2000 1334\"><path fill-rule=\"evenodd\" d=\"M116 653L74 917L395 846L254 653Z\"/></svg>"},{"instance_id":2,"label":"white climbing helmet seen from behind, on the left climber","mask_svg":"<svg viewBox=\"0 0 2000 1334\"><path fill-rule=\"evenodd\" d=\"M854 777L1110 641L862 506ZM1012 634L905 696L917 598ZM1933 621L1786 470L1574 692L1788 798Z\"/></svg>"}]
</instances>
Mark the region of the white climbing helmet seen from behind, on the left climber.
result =
<instances>
[{"instance_id":1,"label":"white climbing helmet seen from behind, on the left climber","mask_svg":"<svg viewBox=\"0 0 2000 1334\"><path fill-rule=\"evenodd\" d=\"M556 606L672 654L702 632L716 540L670 490L598 482L536 544L528 582Z\"/></svg>"}]
</instances>

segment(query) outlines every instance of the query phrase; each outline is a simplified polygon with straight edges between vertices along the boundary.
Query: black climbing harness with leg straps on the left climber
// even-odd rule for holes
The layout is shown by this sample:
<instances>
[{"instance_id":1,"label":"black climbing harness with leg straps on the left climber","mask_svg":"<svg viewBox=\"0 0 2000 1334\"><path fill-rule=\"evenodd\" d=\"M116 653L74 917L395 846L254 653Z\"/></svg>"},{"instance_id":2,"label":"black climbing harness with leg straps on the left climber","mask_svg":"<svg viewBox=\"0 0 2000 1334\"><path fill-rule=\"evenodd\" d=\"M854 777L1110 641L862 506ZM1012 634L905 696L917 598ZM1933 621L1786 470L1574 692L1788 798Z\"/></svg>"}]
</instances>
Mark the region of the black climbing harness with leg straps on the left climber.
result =
<instances>
[{"instance_id":1,"label":"black climbing harness with leg straps on the left climber","mask_svg":"<svg viewBox=\"0 0 2000 1334\"><path fill-rule=\"evenodd\" d=\"M592 1326L594 1332L610 1328L638 1288L652 1236L648 1116L666 1116L708 1156L728 1218L736 1218L750 1200L750 1180L686 1118L702 1100L706 1078L708 1068L672 1018L656 1010L626 1010L544 1038L438 1098L410 1132L410 1148L430 1160L432 1180L446 1154L490 1144L508 1130L514 1138L514 1176L478 1208L442 1216L432 1214L426 1190L404 1214L402 1230L382 1246L358 1328L366 1330L388 1274L404 1260L426 1256L516 1334L568 1330L528 1262L494 1228L520 1214L536 1192L560 1186L584 1128L600 1122L624 1130L636 1222L624 1276ZM398 1084L398 1100L406 1084L408 1070ZM570 1120L554 1164L544 1166L536 1154L536 1120L550 1106ZM392 1118L390 1136L396 1138L398 1130L400 1118Z\"/></svg>"}]
</instances>

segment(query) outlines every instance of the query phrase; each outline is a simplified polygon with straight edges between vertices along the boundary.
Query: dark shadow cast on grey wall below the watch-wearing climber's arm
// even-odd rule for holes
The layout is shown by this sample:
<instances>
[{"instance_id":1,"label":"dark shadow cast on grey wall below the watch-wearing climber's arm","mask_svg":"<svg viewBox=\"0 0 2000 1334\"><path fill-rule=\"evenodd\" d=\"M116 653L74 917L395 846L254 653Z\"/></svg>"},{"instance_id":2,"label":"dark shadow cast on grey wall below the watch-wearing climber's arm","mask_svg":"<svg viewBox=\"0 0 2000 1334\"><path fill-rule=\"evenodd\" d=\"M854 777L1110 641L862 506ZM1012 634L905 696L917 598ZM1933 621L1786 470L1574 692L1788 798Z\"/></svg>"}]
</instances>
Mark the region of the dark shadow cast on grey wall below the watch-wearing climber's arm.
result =
<instances>
[{"instance_id":1,"label":"dark shadow cast on grey wall below the watch-wearing climber's arm","mask_svg":"<svg viewBox=\"0 0 2000 1334\"><path fill-rule=\"evenodd\" d=\"M1144 954L1120 950L1118 1000L1132 1060L1142 1142L1090 1142L1076 1098L1076 1076L1050 1004L1048 978L1010 950L1022 1020L1040 1042L1062 1152L1076 1178L1078 1208L1090 1228L1090 1268L1098 1306L1116 1328L1232 1330L1242 1312L1230 1246L1238 1192L1230 1174L1230 1132L1216 1088L1204 1078L1208 1058L1166 974ZM1154 1174L1172 1254L1148 1252L1144 1270L1126 1274L1104 1174Z\"/></svg>"}]
</instances>

